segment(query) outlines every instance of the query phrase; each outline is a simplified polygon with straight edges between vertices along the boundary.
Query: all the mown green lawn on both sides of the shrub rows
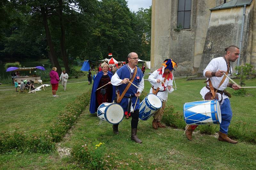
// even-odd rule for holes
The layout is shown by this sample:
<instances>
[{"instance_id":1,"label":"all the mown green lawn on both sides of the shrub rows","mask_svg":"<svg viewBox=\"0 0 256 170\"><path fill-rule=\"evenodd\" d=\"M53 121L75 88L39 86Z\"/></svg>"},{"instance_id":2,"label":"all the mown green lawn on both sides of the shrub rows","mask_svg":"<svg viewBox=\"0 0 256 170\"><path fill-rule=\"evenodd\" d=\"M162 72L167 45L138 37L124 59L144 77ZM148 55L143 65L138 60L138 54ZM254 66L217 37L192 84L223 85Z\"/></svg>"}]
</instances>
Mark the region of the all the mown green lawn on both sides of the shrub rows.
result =
<instances>
[{"instance_id":1,"label":"all the mown green lawn on both sides of the shrub rows","mask_svg":"<svg viewBox=\"0 0 256 170\"><path fill-rule=\"evenodd\" d=\"M147 77L148 74L145 74L145 79ZM84 79L86 80L86 78ZM82 81L82 78L74 81ZM173 105L175 111L183 112L185 102L202 100L199 92L204 86L203 82L204 80L177 79L177 91L169 94L167 105ZM247 80L246 85L254 86L255 82L255 79ZM62 106L74 100L78 94L89 87L91 86L87 83L70 84L67 85L68 90L66 92L63 91L62 87L59 87L60 90L57 91L57 95L60 97L56 99L52 98L50 87L47 88L46 92L40 91L36 94L18 95L15 94L14 89L13 91L1 91L0 102L4 102L4 105L0 106L0 116L6 117L1 119L0 129L5 128L5 126L9 126L6 128L8 130L10 128L15 129L15 126L19 125L20 129L26 129L28 133L42 132L51 124L52 119L57 117L58 111L63 108ZM7 86L3 86L3 88L5 89ZM149 89L150 84L145 81L144 91L149 92ZM232 89L228 89L228 91L232 92ZM232 96L230 99L233 110L231 124L243 121L250 125L249 128L255 128L256 91L248 89L248 92L250 94L248 97ZM31 97L31 100L26 100L26 104L17 105L17 101L25 97L28 98L28 96ZM13 100L14 97L18 99ZM38 108L38 105L31 107L33 103L36 103L35 101L39 103L41 108ZM28 108L32 111L18 112ZM2 113L3 110L7 113ZM12 122L15 122L16 125ZM124 119L120 123L120 135L117 136L113 134L111 124L102 123L98 126L99 118L90 114L89 107L87 107L78 118L75 126L58 146L73 148L81 143L92 146L95 142L104 142L106 153L116 161L113 164L116 169L254 169L256 166L255 144L241 141L238 144L228 144L219 142L214 136L200 133L194 134L194 141L191 142L182 135L183 130L170 127L154 130L151 127L151 122L152 118L148 121L139 122L138 137L143 143L136 144L130 139L131 119ZM57 151L49 154L13 151L0 155L0 169L21 168L79 169L79 166L68 157L61 158Z\"/></svg>"}]
</instances>

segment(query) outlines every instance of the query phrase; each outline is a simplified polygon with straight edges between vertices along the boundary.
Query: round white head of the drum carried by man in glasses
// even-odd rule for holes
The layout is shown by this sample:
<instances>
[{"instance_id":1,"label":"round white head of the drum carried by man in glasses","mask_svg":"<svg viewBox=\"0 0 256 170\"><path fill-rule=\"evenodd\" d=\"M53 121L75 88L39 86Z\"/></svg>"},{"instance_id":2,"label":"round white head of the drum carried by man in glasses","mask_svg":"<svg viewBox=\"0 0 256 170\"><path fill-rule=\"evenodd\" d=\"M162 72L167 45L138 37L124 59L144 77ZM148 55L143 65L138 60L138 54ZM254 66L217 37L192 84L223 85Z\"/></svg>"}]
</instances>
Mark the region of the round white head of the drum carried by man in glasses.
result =
<instances>
[{"instance_id":1,"label":"round white head of the drum carried by man in glasses","mask_svg":"<svg viewBox=\"0 0 256 170\"><path fill-rule=\"evenodd\" d=\"M113 103L105 109L105 118L111 124L120 123L124 118L124 109L121 105Z\"/></svg>"}]
</instances>

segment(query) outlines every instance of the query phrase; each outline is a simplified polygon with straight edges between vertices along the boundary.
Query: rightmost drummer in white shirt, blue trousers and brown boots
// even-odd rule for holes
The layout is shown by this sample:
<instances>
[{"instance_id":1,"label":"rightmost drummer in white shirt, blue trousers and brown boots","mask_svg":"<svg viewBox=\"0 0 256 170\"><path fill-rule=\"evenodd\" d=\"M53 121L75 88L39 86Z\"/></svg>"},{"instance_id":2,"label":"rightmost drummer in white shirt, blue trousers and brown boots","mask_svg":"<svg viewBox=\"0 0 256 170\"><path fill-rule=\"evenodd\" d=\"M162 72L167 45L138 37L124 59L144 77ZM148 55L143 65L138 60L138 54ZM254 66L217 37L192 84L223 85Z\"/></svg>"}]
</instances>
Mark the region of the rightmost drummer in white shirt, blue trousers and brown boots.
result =
<instances>
[{"instance_id":1,"label":"rightmost drummer in white shirt, blue trousers and brown boots","mask_svg":"<svg viewBox=\"0 0 256 170\"><path fill-rule=\"evenodd\" d=\"M236 144L237 141L230 139L228 134L228 126L230 124L231 118L232 118L232 110L230 106L230 101L227 96L230 95L225 91L227 87L231 87L234 90L239 90L240 87L230 83L228 78L225 78L224 82L220 85L221 80L225 76L224 74L228 72L228 76L232 74L232 68L230 66L230 62L235 62L238 58L238 55L240 53L239 48L236 46L229 46L228 48L225 48L226 55L223 57L217 57L211 60L211 62L207 65L207 67L204 69L204 77L207 77L207 85L203 87L200 91L200 94L202 95L203 99L206 99L206 94L208 92L211 92L210 90L210 84L212 83L212 87L214 88L214 92L216 90L216 97L219 100L220 103L220 111L221 111L221 124L220 124L220 131L219 131L219 141L225 141L232 144ZM208 93L209 94L209 93ZM209 99L208 99L209 100ZM186 137L189 140L192 140L192 133L193 130L198 125L189 125L186 129Z\"/></svg>"}]
</instances>

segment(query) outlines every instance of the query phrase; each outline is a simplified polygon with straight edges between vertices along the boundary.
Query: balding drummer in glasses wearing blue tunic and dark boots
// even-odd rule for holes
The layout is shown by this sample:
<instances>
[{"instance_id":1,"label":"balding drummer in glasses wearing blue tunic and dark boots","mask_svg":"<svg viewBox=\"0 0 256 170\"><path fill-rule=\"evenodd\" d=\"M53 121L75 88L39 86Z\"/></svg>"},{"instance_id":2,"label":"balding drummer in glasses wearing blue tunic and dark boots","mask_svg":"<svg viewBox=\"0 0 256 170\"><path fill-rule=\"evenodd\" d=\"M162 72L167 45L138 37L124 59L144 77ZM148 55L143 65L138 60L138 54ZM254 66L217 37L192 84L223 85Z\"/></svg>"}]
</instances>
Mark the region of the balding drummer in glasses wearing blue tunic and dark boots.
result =
<instances>
[{"instance_id":1,"label":"balding drummer in glasses wearing blue tunic and dark boots","mask_svg":"<svg viewBox=\"0 0 256 170\"><path fill-rule=\"evenodd\" d=\"M138 55L134 52L129 53L126 59L126 63L123 67L116 71L111 78L111 84L118 86L118 97L117 103L119 103L123 108L124 112L132 113L132 135L131 139L136 143L141 143L141 140L137 137L137 127L139 121L139 106L140 106L140 93L144 89L144 79L143 73L136 65L138 64ZM135 87L134 85L139 87ZM137 103L136 100L138 99ZM136 106L135 106L136 103ZM118 124L113 125L113 132L119 134Z\"/></svg>"}]
</instances>

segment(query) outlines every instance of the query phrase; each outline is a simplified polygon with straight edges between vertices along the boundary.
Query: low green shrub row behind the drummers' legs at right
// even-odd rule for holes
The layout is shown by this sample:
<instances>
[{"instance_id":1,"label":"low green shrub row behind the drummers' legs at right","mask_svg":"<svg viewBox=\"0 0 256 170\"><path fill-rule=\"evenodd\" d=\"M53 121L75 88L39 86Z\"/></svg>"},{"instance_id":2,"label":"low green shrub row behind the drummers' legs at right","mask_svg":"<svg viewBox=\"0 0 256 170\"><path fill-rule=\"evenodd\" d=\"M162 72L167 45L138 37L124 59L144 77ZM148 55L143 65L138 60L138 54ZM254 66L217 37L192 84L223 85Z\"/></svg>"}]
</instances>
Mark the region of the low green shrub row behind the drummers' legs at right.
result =
<instances>
[{"instance_id":1,"label":"low green shrub row behind the drummers' legs at right","mask_svg":"<svg viewBox=\"0 0 256 170\"><path fill-rule=\"evenodd\" d=\"M183 113L174 112L173 106L166 106L164 109L163 122L171 126L173 128L185 129L186 123L183 118ZM256 143L256 129L249 128L255 125L245 123L242 121L232 122L228 129L228 136L233 139L239 139L244 142ZM219 131L218 125L202 125L198 126L197 130L199 130L202 134L215 134Z\"/></svg>"}]
</instances>

